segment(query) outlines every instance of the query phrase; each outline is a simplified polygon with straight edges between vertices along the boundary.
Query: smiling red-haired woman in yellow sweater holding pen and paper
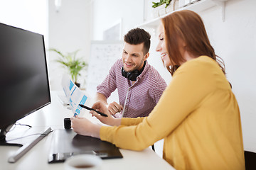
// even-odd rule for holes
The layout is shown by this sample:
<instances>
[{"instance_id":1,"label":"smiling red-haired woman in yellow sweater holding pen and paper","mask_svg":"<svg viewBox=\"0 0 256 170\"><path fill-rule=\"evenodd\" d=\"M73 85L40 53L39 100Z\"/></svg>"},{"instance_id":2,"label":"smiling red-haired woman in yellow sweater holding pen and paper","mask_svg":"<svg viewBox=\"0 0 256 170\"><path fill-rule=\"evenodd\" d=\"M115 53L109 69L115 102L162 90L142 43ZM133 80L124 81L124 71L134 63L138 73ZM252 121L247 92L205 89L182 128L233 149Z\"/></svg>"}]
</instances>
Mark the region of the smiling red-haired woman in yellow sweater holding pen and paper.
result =
<instances>
[{"instance_id":1,"label":"smiling red-haired woman in yellow sweater holding pen and paper","mask_svg":"<svg viewBox=\"0 0 256 170\"><path fill-rule=\"evenodd\" d=\"M72 118L73 129L132 150L164 139L163 158L175 169L245 169L238 102L201 17L183 10L161 21L156 51L173 78L154 110L116 119L97 102L92 108L109 116L90 113L112 126Z\"/></svg>"}]
</instances>

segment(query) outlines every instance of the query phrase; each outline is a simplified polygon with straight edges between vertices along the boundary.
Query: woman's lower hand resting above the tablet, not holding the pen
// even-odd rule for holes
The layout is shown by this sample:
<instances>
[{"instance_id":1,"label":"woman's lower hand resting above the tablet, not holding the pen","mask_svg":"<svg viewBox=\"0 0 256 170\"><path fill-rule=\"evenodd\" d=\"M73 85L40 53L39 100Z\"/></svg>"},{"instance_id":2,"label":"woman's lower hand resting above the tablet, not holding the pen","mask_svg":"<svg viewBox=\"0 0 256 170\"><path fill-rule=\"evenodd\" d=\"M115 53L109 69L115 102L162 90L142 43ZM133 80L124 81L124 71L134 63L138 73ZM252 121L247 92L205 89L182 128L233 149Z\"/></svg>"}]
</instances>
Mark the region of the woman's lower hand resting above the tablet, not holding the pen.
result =
<instances>
[{"instance_id":1,"label":"woman's lower hand resting above the tablet, not holding the pen","mask_svg":"<svg viewBox=\"0 0 256 170\"><path fill-rule=\"evenodd\" d=\"M74 132L79 135L91 136L100 138L101 125L95 125L87 120L86 118L80 118L78 115L71 118L71 127Z\"/></svg>"}]
</instances>

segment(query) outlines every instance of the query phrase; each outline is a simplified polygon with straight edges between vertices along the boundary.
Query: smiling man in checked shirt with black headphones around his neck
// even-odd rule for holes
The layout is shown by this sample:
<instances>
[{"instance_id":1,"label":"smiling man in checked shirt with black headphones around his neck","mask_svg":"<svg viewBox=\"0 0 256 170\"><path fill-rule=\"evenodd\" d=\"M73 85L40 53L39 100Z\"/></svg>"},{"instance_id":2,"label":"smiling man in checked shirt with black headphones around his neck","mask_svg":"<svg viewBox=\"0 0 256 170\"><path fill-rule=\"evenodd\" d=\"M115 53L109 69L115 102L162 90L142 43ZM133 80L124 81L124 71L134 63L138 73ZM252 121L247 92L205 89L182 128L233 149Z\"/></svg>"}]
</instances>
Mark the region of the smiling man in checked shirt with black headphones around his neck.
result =
<instances>
[{"instance_id":1,"label":"smiling man in checked shirt with black headphones around his neck","mask_svg":"<svg viewBox=\"0 0 256 170\"><path fill-rule=\"evenodd\" d=\"M117 60L105 80L97 86L97 100L103 101L116 118L145 117L153 110L166 82L148 62L151 35L134 28L124 35L122 59ZM117 89L119 103L107 103Z\"/></svg>"}]
</instances>

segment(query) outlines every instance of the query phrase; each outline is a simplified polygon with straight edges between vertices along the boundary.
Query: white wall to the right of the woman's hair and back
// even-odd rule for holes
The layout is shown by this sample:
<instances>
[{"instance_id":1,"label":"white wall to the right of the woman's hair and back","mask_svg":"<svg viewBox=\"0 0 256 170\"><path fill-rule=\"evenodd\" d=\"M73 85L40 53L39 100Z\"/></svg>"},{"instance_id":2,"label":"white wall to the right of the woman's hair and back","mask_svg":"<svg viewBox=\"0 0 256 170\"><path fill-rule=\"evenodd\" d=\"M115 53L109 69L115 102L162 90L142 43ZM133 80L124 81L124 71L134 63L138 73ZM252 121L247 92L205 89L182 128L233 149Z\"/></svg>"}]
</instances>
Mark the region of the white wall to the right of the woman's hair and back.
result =
<instances>
[{"instance_id":1,"label":"white wall to the right of the woman's hair and back","mask_svg":"<svg viewBox=\"0 0 256 170\"><path fill-rule=\"evenodd\" d=\"M256 1L230 0L225 21L220 7L202 13L217 55L223 58L227 77L240 106L244 146L256 152Z\"/></svg>"}]
</instances>

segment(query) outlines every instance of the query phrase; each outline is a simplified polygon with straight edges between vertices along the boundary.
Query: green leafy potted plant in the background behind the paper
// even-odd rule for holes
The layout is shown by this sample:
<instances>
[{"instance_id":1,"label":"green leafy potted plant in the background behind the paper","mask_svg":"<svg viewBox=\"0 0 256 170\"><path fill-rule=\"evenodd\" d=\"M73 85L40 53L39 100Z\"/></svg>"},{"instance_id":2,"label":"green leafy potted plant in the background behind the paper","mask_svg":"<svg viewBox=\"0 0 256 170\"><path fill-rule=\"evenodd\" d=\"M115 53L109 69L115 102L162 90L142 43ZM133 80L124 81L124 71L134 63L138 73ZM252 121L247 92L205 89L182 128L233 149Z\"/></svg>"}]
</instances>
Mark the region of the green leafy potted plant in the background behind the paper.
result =
<instances>
[{"instance_id":1,"label":"green leafy potted plant in the background behind the paper","mask_svg":"<svg viewBox=\"0 0 256 170\"><path fill-rule=\"evenodd\" d=\"M75 52L68 52L67 55L64 55L62 52L56 50L55 48L50 48L49 51L58 53L59 58L58 60L55 60L55 62L63 64L64 67L68 68L71 78L75 84L80 87L80 84L77 82L78 76L80 76L80 71L85 69L88 64L82 61L81 58L76 58L79 50L76 50Z\"/></svg>"}]
</instances>

